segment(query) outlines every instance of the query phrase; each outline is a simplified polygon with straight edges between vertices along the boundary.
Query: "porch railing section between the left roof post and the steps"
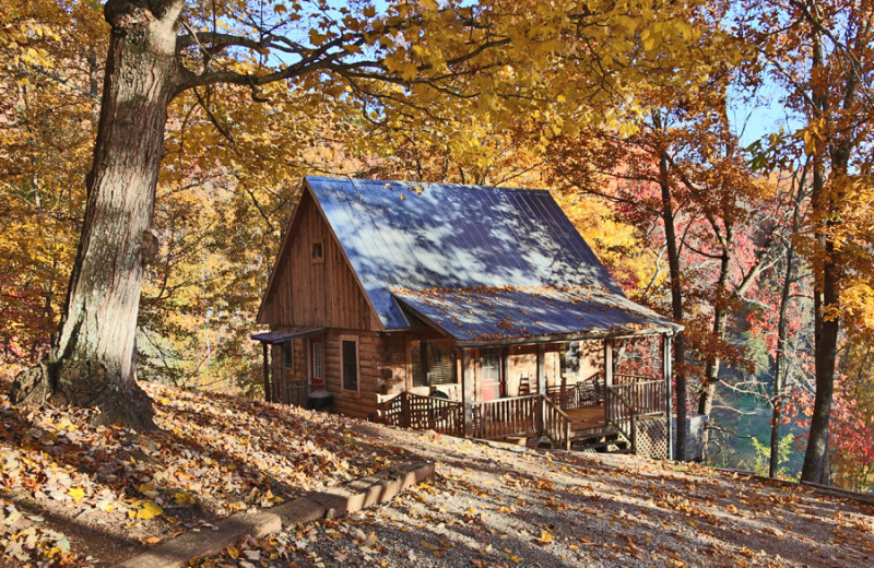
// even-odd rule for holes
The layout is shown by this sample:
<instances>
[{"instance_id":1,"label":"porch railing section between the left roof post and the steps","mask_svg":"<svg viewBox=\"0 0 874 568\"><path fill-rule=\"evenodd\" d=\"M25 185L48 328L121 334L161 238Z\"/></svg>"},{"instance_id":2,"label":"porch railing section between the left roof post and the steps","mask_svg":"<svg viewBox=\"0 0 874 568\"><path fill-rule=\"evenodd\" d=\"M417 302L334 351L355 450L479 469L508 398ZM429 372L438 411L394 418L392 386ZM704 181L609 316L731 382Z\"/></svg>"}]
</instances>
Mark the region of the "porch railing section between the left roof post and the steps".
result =
<instances>
[{"instance_id":1,"label":"porch railing section between the left roof post and the steps","mask_svg":"<svg viewBox=\"0 0 874 568\"><path fill-rule=\"evenodd\" d=\"M540 436L543 403L540 394L525 394L473 403L474 438Z\"/></svg>"}]
</instances>

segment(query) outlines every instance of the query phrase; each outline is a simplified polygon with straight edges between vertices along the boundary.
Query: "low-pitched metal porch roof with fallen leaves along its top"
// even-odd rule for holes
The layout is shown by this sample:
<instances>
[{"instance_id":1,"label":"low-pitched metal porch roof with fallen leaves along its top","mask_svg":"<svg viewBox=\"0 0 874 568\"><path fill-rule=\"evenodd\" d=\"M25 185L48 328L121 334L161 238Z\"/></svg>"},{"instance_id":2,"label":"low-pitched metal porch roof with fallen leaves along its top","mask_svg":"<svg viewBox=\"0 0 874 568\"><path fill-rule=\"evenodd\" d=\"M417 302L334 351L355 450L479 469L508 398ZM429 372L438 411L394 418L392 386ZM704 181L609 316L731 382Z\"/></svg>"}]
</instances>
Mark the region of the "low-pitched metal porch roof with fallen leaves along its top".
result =
<instances>
[{"instance_id":1,"label":"low-pitched metal porch roof with fallen leaves along its top","mask_svg":"<svg viewBox=\"0 0 874 568\"><path fill-rule=\"evenodd\" d=\"M682 326L612 289L500 286L395 289L413 316L459 346L675 333Z\"/></svg>"}]
</instances>

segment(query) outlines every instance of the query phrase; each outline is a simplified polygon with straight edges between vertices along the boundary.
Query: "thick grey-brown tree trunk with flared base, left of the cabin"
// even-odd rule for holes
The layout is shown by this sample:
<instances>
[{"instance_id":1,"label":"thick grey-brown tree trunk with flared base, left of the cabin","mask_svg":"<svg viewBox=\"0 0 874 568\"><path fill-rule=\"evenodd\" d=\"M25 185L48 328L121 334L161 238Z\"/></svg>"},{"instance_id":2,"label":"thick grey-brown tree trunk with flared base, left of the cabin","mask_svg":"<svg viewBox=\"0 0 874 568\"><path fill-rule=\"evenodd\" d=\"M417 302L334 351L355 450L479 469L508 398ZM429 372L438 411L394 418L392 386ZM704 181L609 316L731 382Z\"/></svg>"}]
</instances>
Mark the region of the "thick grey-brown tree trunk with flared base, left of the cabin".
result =
<instances>
[{"instance_id":1,"label":"thick grey-brown tree trunk with flared base, left of the cabin","mask_svg":"<svg viewBox=\"0 0 874 568\"><path fill-rule=\"evenodd\" d=\"M182 0L110 0L111 25L87 203L64 315L49 358L19 376L12 398L99 409L94 422L152 425L137 386L137 315L176 94Z\"/></svg>"}]
</instances>

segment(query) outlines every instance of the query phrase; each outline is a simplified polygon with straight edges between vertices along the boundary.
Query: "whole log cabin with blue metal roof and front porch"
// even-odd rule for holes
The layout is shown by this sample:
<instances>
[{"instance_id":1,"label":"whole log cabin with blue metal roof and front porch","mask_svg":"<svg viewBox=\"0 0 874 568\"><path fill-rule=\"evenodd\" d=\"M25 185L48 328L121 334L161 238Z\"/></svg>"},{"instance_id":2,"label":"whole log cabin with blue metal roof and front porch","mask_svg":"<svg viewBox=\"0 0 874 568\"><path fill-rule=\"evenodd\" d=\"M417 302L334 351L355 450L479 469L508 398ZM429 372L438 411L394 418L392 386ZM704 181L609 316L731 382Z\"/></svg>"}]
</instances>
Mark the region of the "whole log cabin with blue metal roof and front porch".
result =
<instances>
[{"instance_id":1,"label":"whole log cabin with blue metal roof and front porch","mask_svg":"<svg viewBox=\"0 0 874 568\"><path fill-rule=\"evenodd\" d=\"M672 455L682 327L625 296L548 191L307 177L258 323L269 401ZM652 376L623 368L640 341Z\"/></svg>"}]
</instances>

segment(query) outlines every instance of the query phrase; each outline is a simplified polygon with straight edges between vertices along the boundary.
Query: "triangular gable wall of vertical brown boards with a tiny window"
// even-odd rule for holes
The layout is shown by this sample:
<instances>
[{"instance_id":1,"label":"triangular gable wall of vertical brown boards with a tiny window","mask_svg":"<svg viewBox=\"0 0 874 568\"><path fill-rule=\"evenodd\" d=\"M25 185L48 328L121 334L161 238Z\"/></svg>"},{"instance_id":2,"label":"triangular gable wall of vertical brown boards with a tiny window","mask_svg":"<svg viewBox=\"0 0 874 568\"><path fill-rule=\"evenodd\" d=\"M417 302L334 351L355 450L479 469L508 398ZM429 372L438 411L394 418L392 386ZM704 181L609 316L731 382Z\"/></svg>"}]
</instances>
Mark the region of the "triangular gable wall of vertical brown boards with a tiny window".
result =
<instances>
[{"instance_id":1,"label":"triangular gable wall of vertical brown boards with a tiny window","mask_svg":"<svg viewBox=\"0 0 874 568\"><path fill-rule=\"evenodd\" d=\"M260 322L274 329L380 329L340 244L308 190L300 197L288 230ZM314 242L322 244L323 261L312 261Z\"/></svg>"}]
</instances>

